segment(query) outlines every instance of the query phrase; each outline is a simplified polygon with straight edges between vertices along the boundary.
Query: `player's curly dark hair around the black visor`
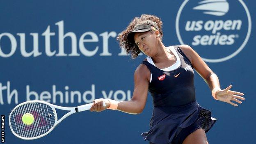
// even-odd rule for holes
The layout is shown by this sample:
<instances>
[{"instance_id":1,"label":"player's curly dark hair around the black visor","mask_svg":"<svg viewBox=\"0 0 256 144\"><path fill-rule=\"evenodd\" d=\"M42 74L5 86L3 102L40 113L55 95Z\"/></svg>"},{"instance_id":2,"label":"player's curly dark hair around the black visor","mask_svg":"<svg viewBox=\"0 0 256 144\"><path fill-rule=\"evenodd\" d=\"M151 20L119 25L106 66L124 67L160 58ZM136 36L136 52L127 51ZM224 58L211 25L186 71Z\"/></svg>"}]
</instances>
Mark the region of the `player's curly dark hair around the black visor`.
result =
<instances>
[{"instance_id":1,"label":"player's curly dark hair around the black visor","mask_svg":"<svg viewBox=\"0 0 256 144\"><path fill-rule=\"evenodd\" d=\"M129 32L133 31L133 28L137 25L151 25L160 32L161 40L163 37L162 21L157 16L142 14L140 18L133 18L133 21L130 22L130 24L126 27L126 30L123 30L123 32L121 32L121 34L117 37L117 40L119 41L119 46L121 48L124 48L127 54L130 53L133 59L135 59L141 51L135 43L131 43L130 41L128 41L127 35Z\"/></svg>"}]
</instances>

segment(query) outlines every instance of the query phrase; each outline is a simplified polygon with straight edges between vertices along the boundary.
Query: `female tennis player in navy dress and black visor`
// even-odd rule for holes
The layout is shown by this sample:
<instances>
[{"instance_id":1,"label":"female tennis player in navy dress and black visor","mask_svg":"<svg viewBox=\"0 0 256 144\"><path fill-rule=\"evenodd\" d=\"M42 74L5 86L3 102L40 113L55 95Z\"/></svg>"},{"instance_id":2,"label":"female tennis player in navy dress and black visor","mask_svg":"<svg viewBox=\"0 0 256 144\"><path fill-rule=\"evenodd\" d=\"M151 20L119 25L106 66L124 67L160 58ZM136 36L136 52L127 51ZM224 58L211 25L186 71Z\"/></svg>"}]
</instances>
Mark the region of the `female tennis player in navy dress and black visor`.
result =
<instances>
[{"instance_id":1,"label":"female tennis player in navy dress and black visor","mask_svg":"<svg viewBox=\"0 0 256 144\"><path fill-rule=\"evenodd\" d=\"M142 133L145 140L150 144L208 144L206 132L217 119L196 101L193 68L206 81L216 100L238 106L236 103L242 103L238 99L245 100L244 94L231 91L231 85L220 89L217 75L190 46L166 47L162 37L160 18L143 14L133 19L117 38L133 58L141 51L148 56L134 73L133 97L122 102L96 99L91 111L107 108L139 114L149 91L154 108L150 130Z\"/></svg>"}]
</instances>

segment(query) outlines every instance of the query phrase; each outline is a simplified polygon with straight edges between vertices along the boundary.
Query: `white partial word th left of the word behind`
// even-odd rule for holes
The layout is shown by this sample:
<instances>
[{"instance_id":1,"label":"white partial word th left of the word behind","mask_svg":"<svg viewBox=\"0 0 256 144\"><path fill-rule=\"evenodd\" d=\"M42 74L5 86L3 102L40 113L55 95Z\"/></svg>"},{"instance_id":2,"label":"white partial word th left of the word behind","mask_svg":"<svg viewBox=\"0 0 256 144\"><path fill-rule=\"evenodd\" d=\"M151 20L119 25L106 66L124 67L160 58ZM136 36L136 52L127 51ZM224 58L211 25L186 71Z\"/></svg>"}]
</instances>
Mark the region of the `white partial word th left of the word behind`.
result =
<instances>
[{"instance_id":1,"label":"white partial word th left of the word behind","mask_svg":"<svg viewBox=\"0 0 256 144\"><path fill-rule=\"evenodd\" d=\"M3 86L0 82L0 104L3 105L3 90L7 90L7 103L11 103L11 99L14 96L15 104L18 104L18 91L16 89L13 89L11 92L11 83L7 81L7 86Z\"/></svg>"}]
</instances>

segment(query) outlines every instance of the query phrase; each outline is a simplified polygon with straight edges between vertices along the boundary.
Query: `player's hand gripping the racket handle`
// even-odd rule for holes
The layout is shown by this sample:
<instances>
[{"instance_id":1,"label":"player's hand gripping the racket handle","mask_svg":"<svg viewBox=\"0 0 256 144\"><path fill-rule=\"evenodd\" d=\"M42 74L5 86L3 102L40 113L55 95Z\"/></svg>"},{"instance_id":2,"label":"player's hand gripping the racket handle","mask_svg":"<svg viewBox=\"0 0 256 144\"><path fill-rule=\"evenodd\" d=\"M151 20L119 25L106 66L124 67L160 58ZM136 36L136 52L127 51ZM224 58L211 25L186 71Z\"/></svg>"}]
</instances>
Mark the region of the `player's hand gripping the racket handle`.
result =
<instances>
[{"instance_id":1,"label":"player's hand gripping the racket handle","mask_svg":"<svg viewBox=\"0 0 256 144\"><path fill-rule=\"evenodd\" d=\"M105 102L106 106L103 106L103 102ZM93 104L91 106L90 111L91 112L102 112L103 110L106 110L108 107L110 107L110 101L104 98L95 99L93 101Z\"/></svg>"}]
</instances>

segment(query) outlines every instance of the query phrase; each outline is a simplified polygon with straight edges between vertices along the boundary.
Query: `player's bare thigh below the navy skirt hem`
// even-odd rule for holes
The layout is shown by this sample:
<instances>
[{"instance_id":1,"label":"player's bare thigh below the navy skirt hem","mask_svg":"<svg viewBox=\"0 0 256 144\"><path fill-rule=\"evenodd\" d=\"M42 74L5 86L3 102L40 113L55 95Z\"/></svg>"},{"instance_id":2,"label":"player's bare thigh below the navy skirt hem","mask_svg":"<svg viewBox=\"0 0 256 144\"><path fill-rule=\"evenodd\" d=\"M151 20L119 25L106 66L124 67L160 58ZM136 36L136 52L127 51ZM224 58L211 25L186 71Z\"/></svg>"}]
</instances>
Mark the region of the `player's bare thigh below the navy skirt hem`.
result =
<instances>
[{"instance_id":1,"label":"player's bare thigh below the navy skirt hem","mask_svg":"<svg viewBox=\"0 0 256 144\"><path fill-rule=\"evenodd\" d=\"M195 130L185 138L182 144L208 144L205 131L203 128Z\"/></svg>"}]
</instances>

